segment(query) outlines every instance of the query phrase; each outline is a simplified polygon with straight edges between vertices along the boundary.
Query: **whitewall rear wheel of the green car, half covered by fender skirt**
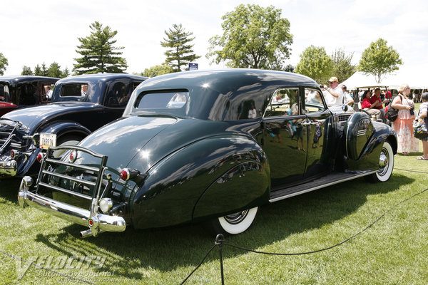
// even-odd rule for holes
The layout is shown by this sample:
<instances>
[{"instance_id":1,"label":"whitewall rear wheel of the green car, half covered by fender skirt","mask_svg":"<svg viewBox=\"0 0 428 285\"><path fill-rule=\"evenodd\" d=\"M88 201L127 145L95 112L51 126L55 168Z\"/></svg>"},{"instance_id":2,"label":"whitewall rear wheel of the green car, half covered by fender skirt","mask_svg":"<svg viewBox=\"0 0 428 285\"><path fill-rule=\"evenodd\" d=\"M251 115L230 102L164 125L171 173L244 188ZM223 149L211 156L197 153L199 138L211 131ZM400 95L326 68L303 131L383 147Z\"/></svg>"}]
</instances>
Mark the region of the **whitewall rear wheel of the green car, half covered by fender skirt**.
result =
<instances>
[{"instance_id":1,"label":"whitewall rear wheel of the green car, half covered by fender skirt","mask_svg":"<svg viewBox=\"0 0 428 285\"><path fill-rule=\"evenodd\" d=\"M258 207L228 214L213 220L211 231L214 234L240 234L253 224Z\"/></svg>"}]
</instances>

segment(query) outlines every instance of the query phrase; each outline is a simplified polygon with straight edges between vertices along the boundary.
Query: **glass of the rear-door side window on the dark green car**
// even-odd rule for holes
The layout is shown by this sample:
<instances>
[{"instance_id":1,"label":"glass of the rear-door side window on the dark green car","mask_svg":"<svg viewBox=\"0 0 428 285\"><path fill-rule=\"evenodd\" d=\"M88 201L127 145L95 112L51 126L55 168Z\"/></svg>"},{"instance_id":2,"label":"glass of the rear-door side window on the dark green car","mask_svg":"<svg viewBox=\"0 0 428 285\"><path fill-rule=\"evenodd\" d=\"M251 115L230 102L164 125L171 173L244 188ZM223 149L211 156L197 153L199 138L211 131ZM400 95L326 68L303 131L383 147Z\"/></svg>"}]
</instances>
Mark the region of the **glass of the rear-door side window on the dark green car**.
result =
<instances>
[{"instance_id":1,"label":"glass of the rear-door side window on the dark green car","mask_svg":"<svg viewBox=\"0 0 428 285\"><path fill-rule=\"evenodd\" d=\"M275 117L283 115L300 115L299 89L280 88L275 90L270 103L267 105L264 117Z\"/></svg>"}]
</instances>

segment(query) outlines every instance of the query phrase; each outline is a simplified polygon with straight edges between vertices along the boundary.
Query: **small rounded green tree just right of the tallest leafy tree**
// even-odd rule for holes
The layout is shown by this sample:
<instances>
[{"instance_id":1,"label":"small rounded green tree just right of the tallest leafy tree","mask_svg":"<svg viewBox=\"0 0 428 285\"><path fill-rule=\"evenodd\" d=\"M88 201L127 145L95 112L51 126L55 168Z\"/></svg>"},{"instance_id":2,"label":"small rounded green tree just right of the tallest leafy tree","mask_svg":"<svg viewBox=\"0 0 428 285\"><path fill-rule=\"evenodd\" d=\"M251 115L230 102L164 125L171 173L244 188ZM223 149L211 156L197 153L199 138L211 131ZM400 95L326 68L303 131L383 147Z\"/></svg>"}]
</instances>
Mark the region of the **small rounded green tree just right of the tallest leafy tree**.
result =
<instances>
[{"instance_id":1,"label":"small rounded green tree just right of the tallest leafy tree","mask_svg":"<svg viewBox=\"0 0 428 285\"><path fill-rule=\"evenodd\" d=\"M332 75L332 69L333 61L327 56L325 48L309 46L300 55L295 72L309 76L318 83L324 83Z\"/></svg>"}]
</instances>

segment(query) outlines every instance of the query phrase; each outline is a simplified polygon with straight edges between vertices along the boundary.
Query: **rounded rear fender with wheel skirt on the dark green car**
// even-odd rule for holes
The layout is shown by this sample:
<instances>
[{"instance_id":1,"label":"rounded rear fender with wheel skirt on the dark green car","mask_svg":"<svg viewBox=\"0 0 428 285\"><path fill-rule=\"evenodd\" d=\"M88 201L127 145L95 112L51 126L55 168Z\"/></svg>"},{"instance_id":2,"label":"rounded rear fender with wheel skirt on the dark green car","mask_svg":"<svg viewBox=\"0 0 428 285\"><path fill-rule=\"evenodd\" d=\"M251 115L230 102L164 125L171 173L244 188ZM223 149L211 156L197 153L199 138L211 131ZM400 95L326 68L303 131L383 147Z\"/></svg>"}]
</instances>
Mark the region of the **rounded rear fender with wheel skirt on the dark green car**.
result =
<instances>
[{"instance_id":1,"label":"rounded rear fender with wheel skirt on the dark green car","mask_svg":"<svg viewBox=\"0 0 428 285\"><path fill-rule=\"evenodd\" d=\"M249 137L198 140L148 170L143 186L131 195L133 225L165 227L263 204L269 197L269 175L263 150Z\"/></svg>"}]
</instances>

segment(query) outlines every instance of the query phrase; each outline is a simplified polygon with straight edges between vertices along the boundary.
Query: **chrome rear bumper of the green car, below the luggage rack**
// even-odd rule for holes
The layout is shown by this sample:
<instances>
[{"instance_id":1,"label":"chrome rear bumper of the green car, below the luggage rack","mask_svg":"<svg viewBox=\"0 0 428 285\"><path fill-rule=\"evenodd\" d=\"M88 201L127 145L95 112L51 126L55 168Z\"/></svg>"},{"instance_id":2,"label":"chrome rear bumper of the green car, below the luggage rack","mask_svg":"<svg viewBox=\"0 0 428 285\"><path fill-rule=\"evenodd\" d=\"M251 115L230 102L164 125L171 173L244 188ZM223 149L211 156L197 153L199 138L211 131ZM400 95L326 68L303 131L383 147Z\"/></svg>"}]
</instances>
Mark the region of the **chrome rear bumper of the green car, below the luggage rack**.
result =
<instances>
[{"instance_id":1,"label":"chrome rear bumper of the green car, below the luggage rack","mask_svg":"<svg viewBox=\"0 0 428 285\"><path fill-rule=\"evenodd\" d=\"M26 205L36 207L37 209L56 217L90 227L90 231L81 232L82 237L86 237L88 235L96 236L101 232L125 231L126 222L123 217L101 213L96 213L91 216L91 212L86 209L74 207L30 192L29 187L32 182L32 178L29 176L22 179L18 193L18 202L21 207L25 207Z\"/></svg>"}]
</instances>

